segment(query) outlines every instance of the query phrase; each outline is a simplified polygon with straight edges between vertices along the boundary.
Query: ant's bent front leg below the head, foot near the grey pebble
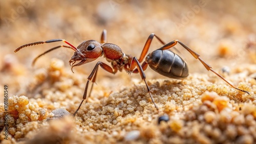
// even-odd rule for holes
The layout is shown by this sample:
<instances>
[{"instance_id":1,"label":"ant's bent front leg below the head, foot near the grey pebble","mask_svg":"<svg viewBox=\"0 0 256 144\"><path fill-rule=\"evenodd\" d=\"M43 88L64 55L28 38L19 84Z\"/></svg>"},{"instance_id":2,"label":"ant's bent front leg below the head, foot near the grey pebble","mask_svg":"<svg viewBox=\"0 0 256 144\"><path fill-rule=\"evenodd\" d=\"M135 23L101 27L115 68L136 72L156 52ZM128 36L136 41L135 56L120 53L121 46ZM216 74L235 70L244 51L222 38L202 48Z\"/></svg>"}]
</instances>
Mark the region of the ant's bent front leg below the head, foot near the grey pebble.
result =
<instances>
[{"instance_id":1,"label":"ant's bent front leg below the head, foot near the grey pebble","mask_svg":"<svg viewBox=\"0 0 256 144\"><path fill-rule=\"evenodd\" d=\"M97 64L95 65L95 67L94 67L93 70L92 70L92 73L91 73L91 74L89 75L89 77L88 77L88 81L87 81L87 83L86 83L86 88L84 88L84 93L83 93L83 97L82 97L83 100L81 101L79 107L77 108L77 110L75 111L75 113L73 114L73 116L76 115L76 113L77 113L78 110L80 109L80 107L81 107L83 101L86 100L89 82L90 82L92 79L93 79L93 81L95 81L95 79L96 79L96 74L97 74L97 69L98 69L98 66L99 66L99 65L100 65L100 67L102 67L104 70L108 71L109 73L114 74L113 69L112 69L109 65L107 65L107 64L105 64L105 63L103 63L103 62L100 62L100 61L97 62ZM94 76L94 75L95 75L95 76ZM91 93L91 92L90 92L90 93ZM89 95L90 95L90 94L89 94Z\"/></svg>"}]
</instances>

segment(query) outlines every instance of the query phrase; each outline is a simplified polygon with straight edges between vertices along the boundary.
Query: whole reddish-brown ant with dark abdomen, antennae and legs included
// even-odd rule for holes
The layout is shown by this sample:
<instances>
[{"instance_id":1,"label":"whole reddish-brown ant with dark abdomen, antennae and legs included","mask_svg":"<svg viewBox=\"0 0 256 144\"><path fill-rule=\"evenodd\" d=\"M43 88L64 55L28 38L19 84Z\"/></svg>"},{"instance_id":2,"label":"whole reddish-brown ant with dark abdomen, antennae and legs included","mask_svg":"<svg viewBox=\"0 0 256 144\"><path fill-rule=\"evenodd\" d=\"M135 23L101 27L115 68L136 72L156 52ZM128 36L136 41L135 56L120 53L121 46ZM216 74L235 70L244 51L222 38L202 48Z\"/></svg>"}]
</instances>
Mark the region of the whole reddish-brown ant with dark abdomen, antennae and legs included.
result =
<instances>
[{"instance_id":1,"label":"whole reddish-brown ant with dark abdomen, antennae and legs included","mask_svg":"<svg viewBox=\"0 0 256 144\"><path fill-rule=\"evenodd\" d=\"M31 45L37 45L37 44L43 44L43 43L51 43L51 42L57 42L57 41L63 41L67 43L67 45L59 45L56 47L53 47L52 49L46 51L45 53L37 56L34 60L32 65L35 63L35 61L41 57L42 55L45 55L46 53L49 53L53 50L56 50L60 47L66 47L68 49L72 49L75 51L74 55L72 56L71 60L69 61L71 70L73 72L73 67L80 66L82 64L86 64L89 62L92 62L96 60L100 56L104 56L106 58L106 61L111 63L111 66L99 61L93 68L91 74L88 77L88 81L86 83L86 87L84 89L82 101L73 114L73 116L76 115L78 110L80 109L82 103L84 100L87 99L87 91L88 91L88 85L89 82L92 81L92 87L89 92L89 96L91 95L91 91L93 88L93 84L96 80L98 67L100 66L104 70L108 71L109 73L115 74L117 71L122 71L122 69L125 69L127 73L139 73L142 80L145 82L147 92L150 94L150 98L155 105L156 109L158 110L158 107L152 97L152 93L150 91L150 87L148 86L146 82L146 76L144 73L144 70L146 70L147 65L149 65L153 70L155 70L157 73L173 79L184 79L188 76L188 67L186 62L177 54L168 51L167 49L170 49L174 47L177 43L182 45L191 55L193 55L196 59L198 59L207 70L212 71L214 74L216 74L218 77L220 77L222 80L224 80L227 84L229 84L231 87L246 92L249 94L248 91L239 89L237 87L234 87L231 83L229 83L226 79L224 79L220 74L218 74L215 70L212 69L210 65L205 63L201 58L200 55L194 52L193 50L189 49L185 44L180 42L179 40L173 40L169 43L163 42L157 35L152 33L146 40L146 43L144 45L144 48L141 52L141 55L139 59L137 57L133 57L131 55L126 55L122 52L121 48L113 43L106 43L106 30L103 30L101 34L100 43L95 40L87 40L83 41L81 44L79 44L77 47L66 41L65 39L52 39L47 41L38 41L33 43L24 44L22 46L19 46L14 52L18 52L20 49L23 49L24 47L31 46ZM156 37L163 46L159 49L153 51L152 53L148 54L146 57L145 55L148 52L148 49L150 48L151 42L153 38ZM140 64L145 57L145 61ZM76 63L76 61L79 61ZM75 64L76 63L76 64ZM73 72L74 73L74 72Z\"/></svg>"}]
</instances>

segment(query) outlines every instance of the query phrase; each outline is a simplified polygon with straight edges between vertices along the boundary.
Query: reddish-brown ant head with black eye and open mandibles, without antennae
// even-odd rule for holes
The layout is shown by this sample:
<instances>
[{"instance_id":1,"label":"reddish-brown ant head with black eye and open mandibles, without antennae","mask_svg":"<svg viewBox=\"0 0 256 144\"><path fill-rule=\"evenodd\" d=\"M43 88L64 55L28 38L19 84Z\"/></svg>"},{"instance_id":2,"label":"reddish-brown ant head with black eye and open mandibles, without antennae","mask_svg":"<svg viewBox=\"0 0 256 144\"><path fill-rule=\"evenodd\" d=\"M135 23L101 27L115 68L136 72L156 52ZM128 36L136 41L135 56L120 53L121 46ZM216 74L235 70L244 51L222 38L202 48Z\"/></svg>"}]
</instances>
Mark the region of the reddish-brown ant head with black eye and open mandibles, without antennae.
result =
<instances>
[{"instance_id":1,"label":"reddish-brown ant head with black eye and open mandibles, without antennae","mask_svg":"<svg viewBox=\"0 0 256 144\"><path fill-rule=\"evenodd\" d=\"M95 40L83 41L77 46L77 51L69 61L72 68L96 60L103 54L101 44ZM75 64L76 61L80 61ZM72 70L73 71L73 70Z\"/></svg>"}]
</instances>

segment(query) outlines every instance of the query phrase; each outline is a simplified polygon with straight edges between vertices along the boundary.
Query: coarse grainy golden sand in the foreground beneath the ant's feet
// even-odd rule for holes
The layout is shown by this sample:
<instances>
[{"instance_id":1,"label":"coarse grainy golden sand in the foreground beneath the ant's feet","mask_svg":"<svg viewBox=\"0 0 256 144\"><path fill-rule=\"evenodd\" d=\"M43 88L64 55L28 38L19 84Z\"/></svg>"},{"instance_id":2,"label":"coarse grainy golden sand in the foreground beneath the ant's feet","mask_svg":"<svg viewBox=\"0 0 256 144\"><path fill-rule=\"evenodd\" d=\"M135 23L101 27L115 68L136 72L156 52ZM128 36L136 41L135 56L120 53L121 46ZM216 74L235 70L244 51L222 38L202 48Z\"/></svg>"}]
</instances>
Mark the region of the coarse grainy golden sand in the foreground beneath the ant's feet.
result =
<instances>
[{"instance_id":1,"label":"coarse grainy golden sand in the foreground beneath the ant's feet","mask_svg":"<svg viewBox=\"0 0 256 144\"><path fill-rule=\"evenodd\" d=\"M61 63L61 60L53 59L52 63ZM50 75L56 70L61 74L58 79ZM218 84L221 80L211 84L209 81L216 77L209 75L191 74L184 80L148 81L159 113L144 83L139 82L108 94L103 94L103 90L96 86L92 97L82 104L75 117L52 119L54 109L64 108L74 113L81 100L82 89L79 87L83 82L69 85L83 74L76 73L71 77L73 74L66 71L65 67L49 65L48 77L42 83L46 87L52 86L39 90L45 93L45 98L28 99L16 95L9 98L9 133L14 141L253 143L256 138L256 101L252 101L255 89L248 86L250 83L240 83L240 88L245 87L250 92L248 95ZM236 75L230 75L229 79ZM234 99L236 97L243 99ZM158 117L164 113L169 116L169 121L158 125Z\"/></svg>"}]
</instances>

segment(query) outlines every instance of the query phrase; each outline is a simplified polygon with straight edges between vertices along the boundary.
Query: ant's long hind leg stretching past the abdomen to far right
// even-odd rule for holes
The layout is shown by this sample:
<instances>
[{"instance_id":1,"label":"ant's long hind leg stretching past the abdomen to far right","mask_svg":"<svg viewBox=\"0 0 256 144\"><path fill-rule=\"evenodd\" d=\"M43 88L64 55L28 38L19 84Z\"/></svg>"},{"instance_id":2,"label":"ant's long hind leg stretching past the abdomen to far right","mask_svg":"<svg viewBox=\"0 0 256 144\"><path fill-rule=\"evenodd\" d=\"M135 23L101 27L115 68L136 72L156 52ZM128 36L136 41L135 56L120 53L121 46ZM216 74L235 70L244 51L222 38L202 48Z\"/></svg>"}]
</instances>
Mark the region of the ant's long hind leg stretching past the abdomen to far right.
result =
<instances>
[{"instance_id":1,"label":"ant's long hind leg stretching past the abdomen to far right","mask_svg":"<svg viewBox=\"0 0 256 144\"><path fill-rule=\"evenodd\" d=\"M185 44L183 44L182 42L180 42L179 40L173 40L167 44L165 44L164 46L160 47L158 50L166 50L166 49L169 49L170 47L173 47L174 45L176 45L177 43L179 43L180 45L182 45L191 55L194 56L194 58L200 60L200 62L204 65L204 67L207 69L207 70L210 70L212 71L212 73L214 73L215 75L217 75L218 77L220 77L222 80L224 80L227 84L229 84L231 87L237 89L237 90L240 90L240 91L243 91L243 92L246 92L248 94L250 94L248 91L246 90L242 90L242 89L239 89L235 86L233 86L231 83L229 83L225 78L223 78L220 74L218 74L214 69L212 69L212 67L205 63L201 58L200 58L200 55L197 54L196 52L194 52L193 50L189 49Z\"/></svg>"}]
</instances>

